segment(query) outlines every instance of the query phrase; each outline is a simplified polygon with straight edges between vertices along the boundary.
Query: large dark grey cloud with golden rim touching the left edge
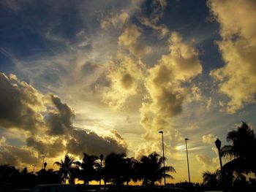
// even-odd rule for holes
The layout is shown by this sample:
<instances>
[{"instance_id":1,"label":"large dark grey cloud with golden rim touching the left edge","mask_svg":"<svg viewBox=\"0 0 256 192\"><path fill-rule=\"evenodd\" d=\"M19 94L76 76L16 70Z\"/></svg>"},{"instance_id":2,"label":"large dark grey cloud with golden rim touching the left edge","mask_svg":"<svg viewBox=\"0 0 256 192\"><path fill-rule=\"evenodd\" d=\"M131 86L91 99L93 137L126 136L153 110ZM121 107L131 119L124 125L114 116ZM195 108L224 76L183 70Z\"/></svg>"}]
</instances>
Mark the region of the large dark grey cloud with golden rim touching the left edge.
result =
<instances>
[{"instance_id":1,"label":"large dark grey cloud with golden rim touching the left edge","mask_svg":"<svg viewBox=\"0 0 256 192\"><path fill-rule=\"evenodd\" d=\"M35 132L43 125L42 96L31 85L0 73L0 93L0 126Z\"/></svg>"}]
</instances>

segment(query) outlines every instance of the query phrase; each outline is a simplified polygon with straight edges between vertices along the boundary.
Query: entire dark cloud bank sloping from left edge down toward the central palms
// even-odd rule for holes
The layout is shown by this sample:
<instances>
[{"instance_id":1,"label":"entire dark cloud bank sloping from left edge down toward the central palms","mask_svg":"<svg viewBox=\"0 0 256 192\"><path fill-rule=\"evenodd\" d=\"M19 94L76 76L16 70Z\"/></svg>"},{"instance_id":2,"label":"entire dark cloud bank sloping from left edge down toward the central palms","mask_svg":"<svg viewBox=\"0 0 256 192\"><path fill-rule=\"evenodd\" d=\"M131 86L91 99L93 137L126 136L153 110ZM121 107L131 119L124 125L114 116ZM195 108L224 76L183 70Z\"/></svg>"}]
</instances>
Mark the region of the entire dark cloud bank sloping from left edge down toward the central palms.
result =
<instances>
[{"instance_id":1,"label":"entire dark cloud bank sloping from left edge down toward the central palms","mask_svg":"<svg viewBox=\"0 0 256 192\"><path fill-rule=\"evenodd\" d=\"M92 132L87 134L86 131L75 130L72 126L75 113L67 104L52 94L42 95L14 74L9 77L0 74L0 92L0 126L21 128L30 134L23 147L4 142L0 163L35 164L34 152L54 158L66 152L106 155L127 151L126 142L116 131L110 131L108 137L100 137Z\"/></svg>"}]
</instances>

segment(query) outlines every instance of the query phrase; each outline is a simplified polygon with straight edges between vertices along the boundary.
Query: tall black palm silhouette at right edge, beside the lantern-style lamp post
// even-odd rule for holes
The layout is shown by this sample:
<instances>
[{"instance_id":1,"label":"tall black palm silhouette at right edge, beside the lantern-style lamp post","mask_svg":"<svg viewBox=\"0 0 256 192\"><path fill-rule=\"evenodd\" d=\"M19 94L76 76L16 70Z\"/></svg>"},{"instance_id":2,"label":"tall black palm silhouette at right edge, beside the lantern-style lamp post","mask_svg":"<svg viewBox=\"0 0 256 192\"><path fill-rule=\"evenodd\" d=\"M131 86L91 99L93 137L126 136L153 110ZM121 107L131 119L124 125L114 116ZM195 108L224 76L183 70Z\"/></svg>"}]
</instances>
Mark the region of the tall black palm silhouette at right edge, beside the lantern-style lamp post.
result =
<instances>
[{"instance_id":1,"label":"tall black palm silhouette at right edge, beside the lantern-style lamp post","mask_svg":"<svg viewBox=\"0 0 256 192\"><path fill-rule=\"evenodd\" d=\"M227 134L227 142L231 142L231 145L222 147L221 154L233 160L225 164L223 168L237 173L253 172L256 175L256 139L252 128L242 122L237 130Z\"/></svg>"}]
</instances>

